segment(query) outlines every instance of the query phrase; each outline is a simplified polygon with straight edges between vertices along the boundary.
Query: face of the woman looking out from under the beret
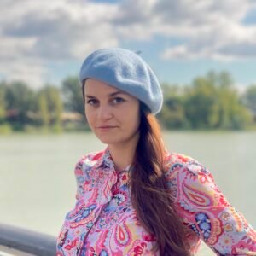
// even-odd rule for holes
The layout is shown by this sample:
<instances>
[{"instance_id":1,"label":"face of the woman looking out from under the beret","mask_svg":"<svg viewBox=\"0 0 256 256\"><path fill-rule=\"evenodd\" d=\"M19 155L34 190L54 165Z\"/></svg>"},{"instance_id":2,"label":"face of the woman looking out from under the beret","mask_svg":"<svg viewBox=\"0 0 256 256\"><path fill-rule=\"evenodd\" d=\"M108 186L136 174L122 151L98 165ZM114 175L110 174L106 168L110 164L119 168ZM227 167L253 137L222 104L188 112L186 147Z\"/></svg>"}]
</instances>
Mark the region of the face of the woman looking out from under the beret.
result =
<instances>
[{"instance_id":1,"label":"face of the woman looking out from under the beret","mask_svg":"<svg viewBox=\"0 0 256 256\"><path fill-rule=\"evenodd\" d=\"M137 144L140 108L136 97L96 79L86 79L84 96L90 129L102 143Z\"/></svg>"}]
</instances>

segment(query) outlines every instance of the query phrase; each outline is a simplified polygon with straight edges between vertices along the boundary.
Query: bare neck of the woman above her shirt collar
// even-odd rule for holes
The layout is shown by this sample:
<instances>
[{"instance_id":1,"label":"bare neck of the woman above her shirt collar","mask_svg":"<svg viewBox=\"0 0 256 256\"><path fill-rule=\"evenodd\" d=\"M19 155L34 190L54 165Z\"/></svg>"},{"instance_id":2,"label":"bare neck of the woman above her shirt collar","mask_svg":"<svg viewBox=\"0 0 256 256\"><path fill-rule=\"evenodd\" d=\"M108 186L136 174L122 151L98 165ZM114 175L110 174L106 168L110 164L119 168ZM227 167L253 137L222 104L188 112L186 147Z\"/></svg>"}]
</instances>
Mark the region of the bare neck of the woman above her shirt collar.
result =
<instances>
[{"instance_id":1,"label":"bare neck of the woman above her shirt collar","mask_svg":"<svg viewBox=\"0 0 256 256\"><path fill-rule=\"evenodd\" d=\"M135 141L130 143L116 143L108 145L116 171L120 172L132 164L137 148L137 141L138 137Z\"/></svg>"}]
</instances>

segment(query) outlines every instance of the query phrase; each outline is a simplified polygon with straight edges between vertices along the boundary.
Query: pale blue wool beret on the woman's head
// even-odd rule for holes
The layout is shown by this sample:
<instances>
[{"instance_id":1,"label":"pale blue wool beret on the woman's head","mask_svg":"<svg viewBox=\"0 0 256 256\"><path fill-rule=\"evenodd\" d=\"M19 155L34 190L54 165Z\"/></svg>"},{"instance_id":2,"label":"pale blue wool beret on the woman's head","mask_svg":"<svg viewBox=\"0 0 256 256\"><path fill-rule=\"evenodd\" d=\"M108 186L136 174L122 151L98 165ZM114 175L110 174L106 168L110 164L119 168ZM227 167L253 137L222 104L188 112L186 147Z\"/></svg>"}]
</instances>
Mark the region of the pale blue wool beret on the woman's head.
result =
<instances>
[{"instance_id":1,"label":"pale blue wool beret on the woman's head","mask_svg":"<svg viewBox=\"0 0 256 256\"><path fill-rule=\"evenodd\" d=\"M144 102L151 113L159 113L163 103L160 83L152 69L135 52L128 49L98 49L85 60L79 73L84 79L97 79L124 90Z\"/></svg>"}]
</instances>

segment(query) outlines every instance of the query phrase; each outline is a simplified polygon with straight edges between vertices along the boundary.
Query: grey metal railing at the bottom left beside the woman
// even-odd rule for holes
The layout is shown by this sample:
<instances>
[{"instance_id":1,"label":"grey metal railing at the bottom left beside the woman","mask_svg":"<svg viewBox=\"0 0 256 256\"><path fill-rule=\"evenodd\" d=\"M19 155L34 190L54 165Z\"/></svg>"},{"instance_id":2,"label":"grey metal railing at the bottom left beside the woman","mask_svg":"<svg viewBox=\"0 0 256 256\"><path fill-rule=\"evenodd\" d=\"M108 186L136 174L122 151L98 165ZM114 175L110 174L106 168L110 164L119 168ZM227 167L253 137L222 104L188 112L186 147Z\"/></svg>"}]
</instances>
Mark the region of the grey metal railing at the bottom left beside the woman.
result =
<instances>
[{"instance_id":1,"label":"grey metal railing at the bottom left beside the woman","mask_svg":"<svg viewBox=\"0 0 256 256\"><path fill-rule=\"evenodd\" d=\"M55 244L54 236L0 224L0 255L51 256L56 255Z\"/></svg>"}]
</instances>

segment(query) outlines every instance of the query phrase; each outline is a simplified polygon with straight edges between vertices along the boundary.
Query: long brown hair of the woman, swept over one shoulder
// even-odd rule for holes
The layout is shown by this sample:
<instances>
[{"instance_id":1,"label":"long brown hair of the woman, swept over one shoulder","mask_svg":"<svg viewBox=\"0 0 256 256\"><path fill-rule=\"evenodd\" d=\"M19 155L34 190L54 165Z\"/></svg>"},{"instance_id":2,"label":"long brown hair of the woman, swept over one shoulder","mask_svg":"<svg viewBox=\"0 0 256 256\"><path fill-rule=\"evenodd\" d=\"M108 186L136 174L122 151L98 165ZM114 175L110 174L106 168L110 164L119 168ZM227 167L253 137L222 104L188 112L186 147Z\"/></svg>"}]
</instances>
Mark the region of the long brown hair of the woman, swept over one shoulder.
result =
<instances>
[{"instance_id":1,"label":"long brown hair of the woman, swept over one shoulder","mask_svg":"<svg viewBox=\"0 0 256 256\"><path fill-rule=\"evenodd\" d=\"M185 226L166 185L165 147L160 125L141 102L140 138L131 170L131 202L144 228L156 239L160 255L190 255ZM133 171L133 172L132 172Z\"/></svg>"}]
</instances>

